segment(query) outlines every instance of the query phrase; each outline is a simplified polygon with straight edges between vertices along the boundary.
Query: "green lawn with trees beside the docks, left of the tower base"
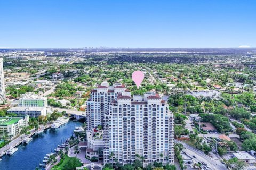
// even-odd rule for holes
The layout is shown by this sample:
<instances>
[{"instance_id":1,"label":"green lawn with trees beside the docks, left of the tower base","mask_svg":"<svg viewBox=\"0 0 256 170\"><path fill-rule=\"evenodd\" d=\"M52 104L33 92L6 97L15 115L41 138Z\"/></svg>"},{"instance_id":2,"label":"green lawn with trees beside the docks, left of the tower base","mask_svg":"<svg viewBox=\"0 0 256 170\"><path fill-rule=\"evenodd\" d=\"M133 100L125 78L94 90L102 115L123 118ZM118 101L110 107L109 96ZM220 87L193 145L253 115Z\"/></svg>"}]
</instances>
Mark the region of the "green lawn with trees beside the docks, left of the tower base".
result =
<instances>
[{"instance_id":1,"label":"green lawn with trees beside the docks, left of the tower base","mask_svg":"<svg viewBox=\"0 0 256 170\"><path fill-rule=\"evenodd\" d=\"M58 167L63 170L72 170L76 167L81 167L83 164L80 162L80 160L76 157L68 157L68 155L63 156L63 161L61 161L59 164L55 165L54 167Z\"/></svg>"}]
</instances>

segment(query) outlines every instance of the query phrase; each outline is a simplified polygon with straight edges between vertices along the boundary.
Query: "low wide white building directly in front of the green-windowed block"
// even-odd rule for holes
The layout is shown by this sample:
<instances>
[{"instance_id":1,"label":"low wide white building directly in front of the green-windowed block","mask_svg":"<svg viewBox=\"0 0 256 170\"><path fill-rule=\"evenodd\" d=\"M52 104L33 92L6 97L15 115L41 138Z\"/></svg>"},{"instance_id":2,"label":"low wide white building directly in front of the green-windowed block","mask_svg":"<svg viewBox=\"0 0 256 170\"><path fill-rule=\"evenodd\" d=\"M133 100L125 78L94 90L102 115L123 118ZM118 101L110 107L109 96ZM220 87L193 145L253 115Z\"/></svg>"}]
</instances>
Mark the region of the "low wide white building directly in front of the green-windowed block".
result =
<instances>
[{"instance_id":1,"label":"low wide white building directly in front of the green-windowed block","mask_svg":"<svg viewBox=\"0 0 256 170\"><path fill-rule=\"evenodd\" d=\"M46 116L46 107L13 107L7 110L7 113L15 113L18 117L29 115L30 117L39 117L41 115Z\"/></svg>"}]
</instances>

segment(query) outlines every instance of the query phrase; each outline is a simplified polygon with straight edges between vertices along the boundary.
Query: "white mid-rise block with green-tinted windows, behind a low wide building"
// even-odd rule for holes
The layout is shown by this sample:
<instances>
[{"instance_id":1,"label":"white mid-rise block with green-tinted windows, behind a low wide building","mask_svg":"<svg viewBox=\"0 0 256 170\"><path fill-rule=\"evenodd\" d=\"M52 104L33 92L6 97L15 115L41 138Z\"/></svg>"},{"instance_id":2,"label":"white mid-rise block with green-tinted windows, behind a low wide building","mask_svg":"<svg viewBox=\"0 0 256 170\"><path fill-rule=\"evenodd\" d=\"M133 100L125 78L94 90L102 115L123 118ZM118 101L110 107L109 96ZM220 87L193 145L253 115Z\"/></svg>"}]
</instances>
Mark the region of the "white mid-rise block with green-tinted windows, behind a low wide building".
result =
<instances>
[{"instance_id":1,"label":"white mid-rise block with green-tinted windows, behind a low wide building","mask_svg":"<svg viewBox=\"0 0 256 170\"><path fill-rule=\"evenodd\" d=\"M19 99L19 106L24 107L47 107L47 97L41 97L33 92L23 94Z\"/></svg>"}]
</instances>

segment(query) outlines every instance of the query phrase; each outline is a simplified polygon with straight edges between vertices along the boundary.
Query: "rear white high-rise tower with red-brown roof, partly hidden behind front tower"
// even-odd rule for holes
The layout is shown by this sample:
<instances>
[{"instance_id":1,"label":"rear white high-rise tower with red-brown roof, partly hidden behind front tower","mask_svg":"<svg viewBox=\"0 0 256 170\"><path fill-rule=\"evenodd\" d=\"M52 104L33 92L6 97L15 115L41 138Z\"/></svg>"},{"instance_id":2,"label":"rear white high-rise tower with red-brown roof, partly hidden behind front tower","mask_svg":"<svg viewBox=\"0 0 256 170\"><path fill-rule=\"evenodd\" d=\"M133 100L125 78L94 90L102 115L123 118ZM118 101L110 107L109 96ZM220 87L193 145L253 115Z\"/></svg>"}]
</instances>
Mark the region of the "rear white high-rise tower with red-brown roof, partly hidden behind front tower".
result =
<instances>
[{"instance_id":1,"label":"rear white high-rise tower with red-brown roof, partly hidden behind front tower","mask_svg":"<svg viewBox=\"0 0 256 170\"><path fill-rule=\"evenodd\" d=\"M87 128L90 130L104 123L104 114L108 111L108 104L114 100L118 94L129 94L125 86L116 83L109 86L107 82L102 82L100 86L91 91L91 97L87 100Z\"/></svg>"}]
</instances>

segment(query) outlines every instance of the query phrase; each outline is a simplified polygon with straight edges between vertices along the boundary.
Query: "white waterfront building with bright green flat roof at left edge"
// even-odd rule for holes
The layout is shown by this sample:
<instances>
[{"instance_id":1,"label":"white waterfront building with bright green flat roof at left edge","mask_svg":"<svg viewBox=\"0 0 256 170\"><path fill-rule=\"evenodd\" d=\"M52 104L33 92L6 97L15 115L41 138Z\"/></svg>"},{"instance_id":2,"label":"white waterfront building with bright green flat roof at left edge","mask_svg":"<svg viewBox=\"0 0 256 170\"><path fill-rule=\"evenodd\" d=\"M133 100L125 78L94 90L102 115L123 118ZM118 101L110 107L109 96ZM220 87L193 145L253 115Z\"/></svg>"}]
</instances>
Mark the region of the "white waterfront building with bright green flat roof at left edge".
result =
<instances>
[{"instance_id":1,"label":"white waterfront building with bright green flat roof at left edge","mask_svg":"<svg viewBox=\"0 0 256 170\"><path fill-rule=\"evenodd\" d=\"M0 118L0 138L8 135L10 138L16 137L23 127L29 124L29 116Z\"/></svg>"}]
</instances>

